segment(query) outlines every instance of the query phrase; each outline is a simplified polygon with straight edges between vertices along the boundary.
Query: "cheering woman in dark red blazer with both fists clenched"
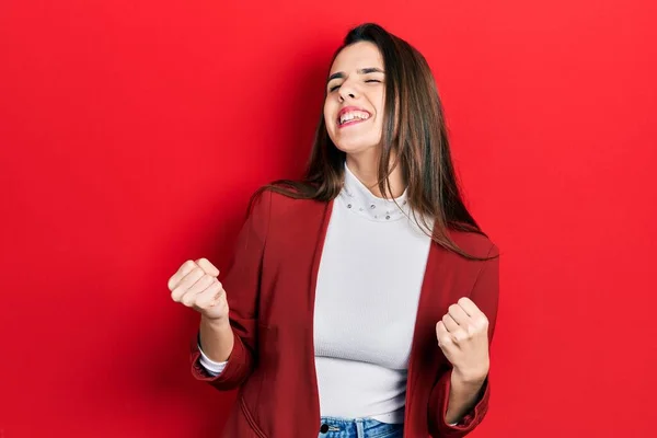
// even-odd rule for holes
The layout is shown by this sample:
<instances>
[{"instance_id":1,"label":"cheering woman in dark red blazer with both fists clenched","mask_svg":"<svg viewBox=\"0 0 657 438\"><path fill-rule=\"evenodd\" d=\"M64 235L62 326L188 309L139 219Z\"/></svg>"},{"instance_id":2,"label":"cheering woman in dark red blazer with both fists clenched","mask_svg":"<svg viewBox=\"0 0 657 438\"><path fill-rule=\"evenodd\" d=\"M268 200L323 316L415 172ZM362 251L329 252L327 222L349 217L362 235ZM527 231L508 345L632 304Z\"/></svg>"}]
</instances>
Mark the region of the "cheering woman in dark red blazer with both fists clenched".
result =
<instances>
[{"instance_id":1,"label":"cheering woman in dark red blazer with both fists clenched","mask_svg":"<svg viewBox=\"0 0 657 438\"><path fill-rule=\"evenodd\" d=\"M462 437L484 417L497 247L463 205L424 57L348 33L303 181L256 193L233 262L169 280L227 437Z\"/></svg>"}]
</instances>

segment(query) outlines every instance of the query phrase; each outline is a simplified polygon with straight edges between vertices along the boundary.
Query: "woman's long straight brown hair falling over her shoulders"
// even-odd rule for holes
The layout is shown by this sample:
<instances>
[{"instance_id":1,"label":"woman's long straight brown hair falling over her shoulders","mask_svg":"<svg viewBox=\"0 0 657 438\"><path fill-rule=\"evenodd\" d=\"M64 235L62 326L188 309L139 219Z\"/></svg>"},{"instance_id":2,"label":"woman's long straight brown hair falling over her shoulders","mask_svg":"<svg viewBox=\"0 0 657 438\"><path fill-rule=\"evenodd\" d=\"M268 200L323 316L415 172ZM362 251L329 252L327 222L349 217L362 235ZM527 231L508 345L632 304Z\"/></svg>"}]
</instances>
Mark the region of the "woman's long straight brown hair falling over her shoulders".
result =
<instances>
[{"instance_id":1,"label":"woman's long straight brown hair falling over her shoulders","mask_svg":"<svg viewBox=\"0 0 657 438\"><path fill-rule=\"evenodd\" d=\"M408 43L380 25L365 23L348 32L343 45L333 55L333 60L342 49L359 42L373 43L379 48L385 70L379 189L384 196L392 193L388 176L395 165L401 164L416 223L419 226L422 221L424 227L420 228L442 247L470 260L486 260L465 253L448 232L452 229L483 234L461 197L442 104L426 59ZM392 166L391 152L395 157ZM337 149L328 137L322 114L302 180L275 181L261 187L254 198L263 191L270 189L295 199L330 201L343 187L345 160L346 153ZM433 228L426 217L434 218Z\"/></svg>"}]
</instances>

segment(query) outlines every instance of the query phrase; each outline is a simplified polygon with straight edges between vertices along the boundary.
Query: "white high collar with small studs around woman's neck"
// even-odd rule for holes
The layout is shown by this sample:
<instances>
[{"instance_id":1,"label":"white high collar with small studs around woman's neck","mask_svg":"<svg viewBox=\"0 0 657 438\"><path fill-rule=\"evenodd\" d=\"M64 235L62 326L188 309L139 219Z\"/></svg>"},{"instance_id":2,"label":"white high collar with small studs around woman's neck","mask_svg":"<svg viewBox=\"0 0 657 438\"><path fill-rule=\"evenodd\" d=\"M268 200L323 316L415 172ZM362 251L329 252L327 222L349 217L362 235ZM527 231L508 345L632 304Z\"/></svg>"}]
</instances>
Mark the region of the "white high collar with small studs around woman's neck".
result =
<instances>
[{"instance_id":1,"label":"white high collar with small studs around woman's neck","mask_svg":"<svg viewBox=\"0 0 657 438\"><path fill-rule=\"evenodd\" d=\"M345 162L345 180L338 198L345 207L356 215L370 220L389 222L408 217L411 208L407 200L408 187L397 198L384 199L374 196L365 184L354 175ZM396 204L395 204L396 203Z\"/></svg>"}]
</instances>

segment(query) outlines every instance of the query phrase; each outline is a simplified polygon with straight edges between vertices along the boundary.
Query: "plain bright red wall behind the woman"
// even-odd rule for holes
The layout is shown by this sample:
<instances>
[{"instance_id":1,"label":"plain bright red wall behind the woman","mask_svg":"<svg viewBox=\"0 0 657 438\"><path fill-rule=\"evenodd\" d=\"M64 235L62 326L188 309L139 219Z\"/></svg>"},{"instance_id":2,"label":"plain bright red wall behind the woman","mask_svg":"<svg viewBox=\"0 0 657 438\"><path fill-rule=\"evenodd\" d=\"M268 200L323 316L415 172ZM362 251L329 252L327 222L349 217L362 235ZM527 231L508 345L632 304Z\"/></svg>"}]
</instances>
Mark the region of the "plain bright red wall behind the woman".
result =
<instances>
[{"instance_id":1,"label":"plain bright red wall behind the woman","mask_svg":"<svg viewBox=\"0 0 657 438\"><path fill-rule=\"evenodd\" d=\"M426 55L504 251L473 436L650 435L655 2L224 3L0 3L0 437L217 436L232 394L189 376L166 280L299 174L362 21Z\"/></svg>"}]
</instances>

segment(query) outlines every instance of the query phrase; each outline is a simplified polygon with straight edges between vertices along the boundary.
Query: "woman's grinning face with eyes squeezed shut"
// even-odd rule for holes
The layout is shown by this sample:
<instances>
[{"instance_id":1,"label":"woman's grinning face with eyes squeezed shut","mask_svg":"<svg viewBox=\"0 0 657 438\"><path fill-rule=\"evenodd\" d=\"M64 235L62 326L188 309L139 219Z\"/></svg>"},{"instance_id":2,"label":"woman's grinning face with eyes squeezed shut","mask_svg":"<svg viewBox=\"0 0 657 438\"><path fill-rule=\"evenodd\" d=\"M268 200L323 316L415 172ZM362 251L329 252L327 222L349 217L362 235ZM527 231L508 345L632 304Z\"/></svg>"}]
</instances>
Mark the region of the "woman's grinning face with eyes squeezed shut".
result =
<instances>
[{"instance_id":1,"label":"woman's grinning face with eyes squeezed shut","mask_svg":"<svg viewBox=\"0 0 657 438\"><path fill-rule=\"evenodd\" d=\"M324 120L333 143L347 153L374 149L383 130L383 59L368 42L345 47L326 83Z\"/></svg>"}]
</instances>

